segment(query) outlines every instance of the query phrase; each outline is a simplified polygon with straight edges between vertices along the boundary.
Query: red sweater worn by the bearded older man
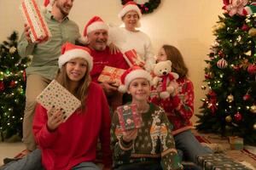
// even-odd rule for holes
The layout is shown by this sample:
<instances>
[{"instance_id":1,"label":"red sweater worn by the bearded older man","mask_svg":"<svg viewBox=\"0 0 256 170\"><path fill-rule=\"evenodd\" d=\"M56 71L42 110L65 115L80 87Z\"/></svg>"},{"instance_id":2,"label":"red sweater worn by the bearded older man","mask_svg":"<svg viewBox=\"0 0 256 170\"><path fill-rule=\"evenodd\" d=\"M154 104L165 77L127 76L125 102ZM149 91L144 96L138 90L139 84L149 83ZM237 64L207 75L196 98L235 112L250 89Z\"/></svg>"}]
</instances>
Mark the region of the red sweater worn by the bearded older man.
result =
<instances>
[{"instance_id":1,"label":"red sweater worn by the bearded older man","mask_svg":"<svg viewBox=\"0 0 256 170\"><path fill-rule=\"evenodd\" d=\"M97 82L97 79L102 73L105 65L125 70L129 68L129 65L126 63L123 54L110 54L108 47L103 51L96 51L95 49L91 48L90 50L90 55L93 58L93 68L92 71L90 71L90 76L93 82Z\"/></svg>"}]
</instances>

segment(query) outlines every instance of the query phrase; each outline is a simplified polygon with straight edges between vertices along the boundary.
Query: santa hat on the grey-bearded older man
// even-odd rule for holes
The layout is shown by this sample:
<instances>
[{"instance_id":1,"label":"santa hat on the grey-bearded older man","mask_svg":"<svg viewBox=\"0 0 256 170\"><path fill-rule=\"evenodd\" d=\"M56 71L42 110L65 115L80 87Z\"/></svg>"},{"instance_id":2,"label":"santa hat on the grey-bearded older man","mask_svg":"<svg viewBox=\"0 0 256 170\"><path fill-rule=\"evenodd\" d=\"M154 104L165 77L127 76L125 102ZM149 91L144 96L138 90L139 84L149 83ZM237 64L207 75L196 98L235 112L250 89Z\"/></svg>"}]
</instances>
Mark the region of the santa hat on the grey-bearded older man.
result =
<instances>
[{"instance_id":1,"label":"santa hat on the grey-bearded older man","mask_svg":"<svg viewBox=\"0 0 256 170\"><path fill-rule=\"evenodd\" d=\"M96 30L107 30L108 31L108 25L105 24L105 22L99 16L92 17L88 21L88 23L84 26L84 37L81 37L79 39L79 42L87 43L88 42L87 35L91 31L96 31Z\"/></svg>"}]
</instances>

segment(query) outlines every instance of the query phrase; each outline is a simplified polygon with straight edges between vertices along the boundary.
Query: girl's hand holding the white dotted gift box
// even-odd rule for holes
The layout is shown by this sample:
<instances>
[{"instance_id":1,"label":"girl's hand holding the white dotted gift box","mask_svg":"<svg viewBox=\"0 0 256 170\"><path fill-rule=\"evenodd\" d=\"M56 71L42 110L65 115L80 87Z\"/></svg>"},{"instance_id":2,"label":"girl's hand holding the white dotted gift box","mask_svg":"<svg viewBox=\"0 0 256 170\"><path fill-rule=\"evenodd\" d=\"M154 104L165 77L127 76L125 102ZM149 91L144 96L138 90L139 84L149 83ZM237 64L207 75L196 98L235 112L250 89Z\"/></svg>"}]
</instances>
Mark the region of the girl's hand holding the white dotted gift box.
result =
<instances>
[{"instance_id":1,"label":"girl's hand holding the white dotted gift box","mask_svg":"<svg viewBox=\"0 0 256 170\"><path fill-rule=\"evenodd\" d=\"M52 107L47 111L47 116L47 127L49 131L54 131L62 122L64 122L62 109L55 109L55 107Z\"/></svg>"}]
</instances>

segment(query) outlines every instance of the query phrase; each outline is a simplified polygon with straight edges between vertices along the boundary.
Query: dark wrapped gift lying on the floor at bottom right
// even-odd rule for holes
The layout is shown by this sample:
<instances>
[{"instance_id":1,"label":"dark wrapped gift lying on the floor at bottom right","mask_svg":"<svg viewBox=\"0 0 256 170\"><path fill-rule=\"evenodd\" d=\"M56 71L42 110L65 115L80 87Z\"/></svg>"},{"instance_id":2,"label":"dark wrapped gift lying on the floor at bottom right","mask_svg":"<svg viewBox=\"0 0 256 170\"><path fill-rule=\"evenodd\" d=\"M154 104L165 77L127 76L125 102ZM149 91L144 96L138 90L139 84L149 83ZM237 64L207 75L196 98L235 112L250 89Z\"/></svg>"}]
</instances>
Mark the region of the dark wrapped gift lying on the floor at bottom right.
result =
<instances>
[{"instance_id":1,"label":"dark wrapped gift lying on the floor at bottom right","mask_svg":"<svg viewBox=\"0 0 256 170\"><path fill-rule=\"evenodd\" d=\"M197 164L203 170L250 170L224 154L207 154L197 156Z\"/></svg>"}]
</instances>

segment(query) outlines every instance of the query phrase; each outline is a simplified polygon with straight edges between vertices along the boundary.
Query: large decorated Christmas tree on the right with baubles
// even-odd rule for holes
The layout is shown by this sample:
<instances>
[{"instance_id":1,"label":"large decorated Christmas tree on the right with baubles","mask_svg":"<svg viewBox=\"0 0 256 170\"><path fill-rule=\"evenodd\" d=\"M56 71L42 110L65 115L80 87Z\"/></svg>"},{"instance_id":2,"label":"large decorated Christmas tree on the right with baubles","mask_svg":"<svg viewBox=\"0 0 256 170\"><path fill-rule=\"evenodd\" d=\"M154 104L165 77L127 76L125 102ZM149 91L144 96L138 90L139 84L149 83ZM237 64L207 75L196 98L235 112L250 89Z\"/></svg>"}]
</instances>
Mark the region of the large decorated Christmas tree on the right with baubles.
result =
<instances>
[{"instance_id":1,"label":"large decorated Christmas tree on the right with baubles","mask_svg":"<svg viewBox=\"0 0 256 170\"><path fill-rule=\"evenodd\" d=\"M256 3L224 0L224 14L206 60L208 93L201 99L199 131L240 136L256 144ZM202 89L206 89L202 86Z\"/></svg>"}]
</instances>

